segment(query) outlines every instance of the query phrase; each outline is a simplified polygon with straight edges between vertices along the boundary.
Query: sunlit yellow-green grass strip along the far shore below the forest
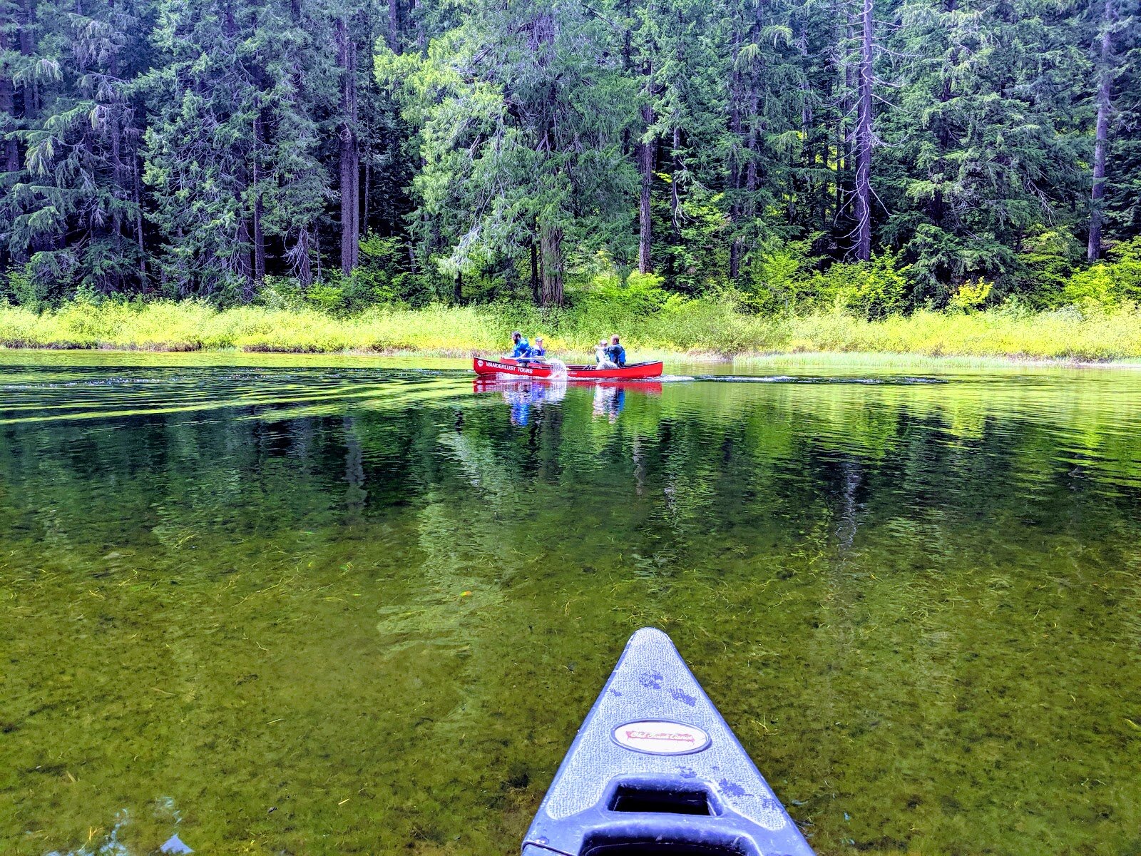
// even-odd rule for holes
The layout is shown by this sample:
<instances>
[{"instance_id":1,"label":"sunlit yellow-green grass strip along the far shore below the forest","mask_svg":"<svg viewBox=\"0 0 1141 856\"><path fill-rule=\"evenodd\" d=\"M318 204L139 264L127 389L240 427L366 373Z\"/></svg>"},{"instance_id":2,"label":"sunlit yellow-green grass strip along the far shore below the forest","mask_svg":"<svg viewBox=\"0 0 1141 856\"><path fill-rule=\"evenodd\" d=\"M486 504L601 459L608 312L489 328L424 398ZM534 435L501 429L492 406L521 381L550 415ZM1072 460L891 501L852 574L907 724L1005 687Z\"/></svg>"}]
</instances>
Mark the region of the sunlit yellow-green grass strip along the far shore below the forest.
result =
<instances>
[{"instance_id":1,"label":"sunlit yellow-green grass strip along the far shore below the forest","mask_svg":"<svg viewBox=\"0 0 1141 856\"><path fill-rule=\"evenodd\" d=\"M13 348L467 355L501 350L512 328L528 336L544 334L549 348L570 356L588 353L599 337L617 332L629 348L641 354L1141 357L1141 312L1135 308L1112 313L1074 308L1045 313L916 312L866 321L843 313L746 315L704 300L640 315L597 307L563 313L505 307L378 308L340 317L311 308L219 310L201 302L76 302L42 313L0 306L0 346Z\"/></svg>"}]
</instances>

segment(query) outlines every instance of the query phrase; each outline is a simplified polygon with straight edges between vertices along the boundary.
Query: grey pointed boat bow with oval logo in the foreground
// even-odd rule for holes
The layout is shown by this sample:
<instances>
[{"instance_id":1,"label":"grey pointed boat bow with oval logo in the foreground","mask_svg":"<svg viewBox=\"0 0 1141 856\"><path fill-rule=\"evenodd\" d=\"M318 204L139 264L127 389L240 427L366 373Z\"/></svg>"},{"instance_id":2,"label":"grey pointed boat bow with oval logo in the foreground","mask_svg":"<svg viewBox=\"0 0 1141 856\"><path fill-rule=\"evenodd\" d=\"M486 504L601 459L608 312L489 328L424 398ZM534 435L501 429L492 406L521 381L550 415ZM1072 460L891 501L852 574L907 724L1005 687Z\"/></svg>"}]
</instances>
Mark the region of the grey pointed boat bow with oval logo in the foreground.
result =
<instances>
[{"instance_id":1,"label":"grey pointed boat bow with oval logo in the foreground","mask_svg":"<svg viewBox=\"0 0 1141 856\"><path fill-rule=\"evenodd\" d=\"M670 637L630 637L523 856L812 856Z\"/></svg>"}]
</instances>

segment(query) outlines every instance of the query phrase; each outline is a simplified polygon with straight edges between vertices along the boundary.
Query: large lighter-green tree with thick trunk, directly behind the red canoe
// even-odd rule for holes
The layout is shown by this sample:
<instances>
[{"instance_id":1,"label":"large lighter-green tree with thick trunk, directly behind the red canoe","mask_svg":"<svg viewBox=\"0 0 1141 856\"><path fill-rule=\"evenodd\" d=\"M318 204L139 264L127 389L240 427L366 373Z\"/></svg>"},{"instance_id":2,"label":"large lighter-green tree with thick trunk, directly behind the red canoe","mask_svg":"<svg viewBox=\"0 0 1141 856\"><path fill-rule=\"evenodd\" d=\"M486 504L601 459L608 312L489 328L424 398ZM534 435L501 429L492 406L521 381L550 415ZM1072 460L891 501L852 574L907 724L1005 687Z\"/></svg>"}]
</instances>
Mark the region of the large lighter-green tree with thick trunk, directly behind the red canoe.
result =
<instances>
[{"instance_id":1,"label":"large lighter-green tree with thick trunk, directly behind the red canoe","mask_svg":"<svg viewBox=\"0 0 1141 856\"><path fill-rule=\"evenodd\" d=\"M563 302L568 233L614 228L633 187L622 158L632 87L613 31L585 7L479 6L411 78L423 244L462 275L539 233L540 302ZM446 250L440 252L440 250Z\"/></svg>"}]
</instances>

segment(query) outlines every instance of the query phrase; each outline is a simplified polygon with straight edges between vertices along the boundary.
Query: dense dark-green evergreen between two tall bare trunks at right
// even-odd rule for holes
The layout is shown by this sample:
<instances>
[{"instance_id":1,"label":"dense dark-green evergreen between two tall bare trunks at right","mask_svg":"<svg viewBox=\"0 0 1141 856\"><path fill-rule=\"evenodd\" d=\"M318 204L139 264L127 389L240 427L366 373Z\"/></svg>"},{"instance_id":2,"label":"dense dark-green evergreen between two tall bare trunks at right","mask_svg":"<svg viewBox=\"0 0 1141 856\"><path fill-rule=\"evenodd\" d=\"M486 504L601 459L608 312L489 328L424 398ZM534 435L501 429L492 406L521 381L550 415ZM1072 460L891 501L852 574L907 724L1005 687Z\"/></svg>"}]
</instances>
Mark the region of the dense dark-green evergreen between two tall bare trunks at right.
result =
<instances>
[{"instance_id":1,"label":"dense dark-green evergreen between two tall bare trunks at right","mask_svg":"<svg viewBox=\"0 0 1141 856\"><path fill-rule=\"evenodd\" d=\"M895 154L887 237L914 263L925 297L1013 268L1029 232L1067 218L1079 192L1075 50L1066 19L1033 2L909 0L906 71L889 114Z\"/></svg>"}]
</instances>

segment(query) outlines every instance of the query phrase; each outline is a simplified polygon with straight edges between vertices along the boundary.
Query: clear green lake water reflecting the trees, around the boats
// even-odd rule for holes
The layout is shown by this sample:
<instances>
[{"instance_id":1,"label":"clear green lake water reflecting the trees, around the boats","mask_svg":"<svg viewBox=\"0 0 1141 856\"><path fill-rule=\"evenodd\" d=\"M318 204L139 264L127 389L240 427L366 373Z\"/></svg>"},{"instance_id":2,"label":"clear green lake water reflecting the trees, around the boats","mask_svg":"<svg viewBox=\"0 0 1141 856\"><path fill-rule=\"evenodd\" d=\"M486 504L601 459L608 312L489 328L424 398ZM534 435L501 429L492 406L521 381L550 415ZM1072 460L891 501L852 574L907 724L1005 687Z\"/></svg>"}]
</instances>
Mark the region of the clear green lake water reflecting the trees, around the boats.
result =
<instances>
[{"instance_id":1,"label":"clear green lake water reflecting the trees, around the boats","mask_svg":"<svg viewBox=\"0 0 1141 856\"><path fill-rule=\"evenodd\" d=\"M1141 373L458 365L0 354L0 853L516 853L646 624L820 854L1141 853Z\"/></svg>"}]
</instances>

